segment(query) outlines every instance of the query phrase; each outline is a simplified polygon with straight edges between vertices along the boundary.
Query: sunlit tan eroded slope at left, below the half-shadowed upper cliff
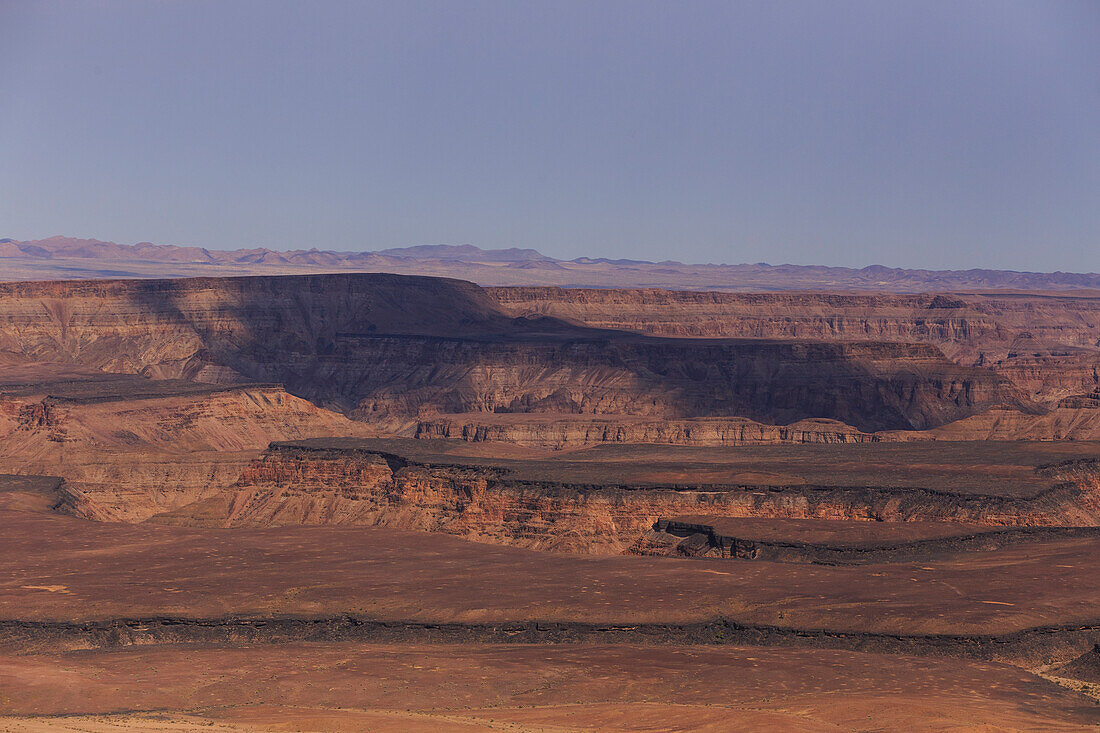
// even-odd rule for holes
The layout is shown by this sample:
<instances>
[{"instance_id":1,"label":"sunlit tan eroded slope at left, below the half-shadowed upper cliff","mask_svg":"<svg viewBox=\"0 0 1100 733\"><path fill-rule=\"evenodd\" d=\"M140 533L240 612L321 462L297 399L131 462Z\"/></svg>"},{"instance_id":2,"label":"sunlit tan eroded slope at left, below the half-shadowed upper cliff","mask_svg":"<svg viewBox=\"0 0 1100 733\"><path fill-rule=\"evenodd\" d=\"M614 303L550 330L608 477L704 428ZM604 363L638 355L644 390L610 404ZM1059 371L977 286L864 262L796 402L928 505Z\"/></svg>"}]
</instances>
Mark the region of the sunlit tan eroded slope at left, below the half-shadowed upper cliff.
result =
<instances>
[{"instance_id":1,"label":"sunlit tan eroded slope at left, below the half-shadowed upper cliff","mask_svg":"<svg viewBox=\"0 0 1100 733\"><path fill-rule=\"evenodd\" d=\"M370 434L271 385L195 390L131 378L56 386L84 396L0 387L0 473L64 475L65 506L97 519L140 521L223 490L272 440Z\"/></svg>"}]
</instances>

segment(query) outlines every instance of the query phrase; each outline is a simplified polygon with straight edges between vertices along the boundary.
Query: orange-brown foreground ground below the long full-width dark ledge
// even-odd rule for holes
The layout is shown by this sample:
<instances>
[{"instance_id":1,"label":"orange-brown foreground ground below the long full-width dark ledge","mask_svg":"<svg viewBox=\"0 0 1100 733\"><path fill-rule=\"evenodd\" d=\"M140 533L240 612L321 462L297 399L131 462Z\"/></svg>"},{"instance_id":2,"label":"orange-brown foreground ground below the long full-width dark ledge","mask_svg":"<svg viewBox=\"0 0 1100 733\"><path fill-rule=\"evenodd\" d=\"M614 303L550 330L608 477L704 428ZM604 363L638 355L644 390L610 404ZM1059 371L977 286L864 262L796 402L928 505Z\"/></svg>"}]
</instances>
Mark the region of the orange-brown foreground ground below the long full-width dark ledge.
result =
<instances>
[{"instance_id":1,"label":"orange-brown foreground ground below the long full-width dark ledge","mask_svg":"<svg viewBox=\"0 0 1100 733\"><path fill-rule=\"evenodd\" d=\"M0 731L1068 732L1100 720L1004 665L759 647L146 647L0 656Z\"/></svg>"}]
</instances>

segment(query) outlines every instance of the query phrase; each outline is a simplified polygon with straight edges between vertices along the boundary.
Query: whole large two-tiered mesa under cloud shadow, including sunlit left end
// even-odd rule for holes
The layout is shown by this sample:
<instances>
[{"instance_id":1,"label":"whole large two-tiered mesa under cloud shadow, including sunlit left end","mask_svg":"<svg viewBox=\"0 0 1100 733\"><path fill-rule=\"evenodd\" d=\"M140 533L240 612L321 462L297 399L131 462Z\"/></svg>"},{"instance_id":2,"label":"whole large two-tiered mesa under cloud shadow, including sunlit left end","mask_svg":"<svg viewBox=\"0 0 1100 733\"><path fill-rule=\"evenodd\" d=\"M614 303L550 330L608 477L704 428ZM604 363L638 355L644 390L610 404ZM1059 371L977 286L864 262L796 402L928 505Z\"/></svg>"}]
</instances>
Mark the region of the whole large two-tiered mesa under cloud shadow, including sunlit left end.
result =
<instances>
[{"instance_id":1,"label":"whole large two-tiered mesa under cloud shadow, including sunlit left end","mask_svg":"<svg viewBox=\"0 0 1100 733\"><path fill-rule=\"evenodd\" d=\"M1037 409L931 344L640 336L514 317L471 283L381 274L0 284L0 360L277 382L392 428L439 412L925 429Z\"/></svg>"}]
</instances>

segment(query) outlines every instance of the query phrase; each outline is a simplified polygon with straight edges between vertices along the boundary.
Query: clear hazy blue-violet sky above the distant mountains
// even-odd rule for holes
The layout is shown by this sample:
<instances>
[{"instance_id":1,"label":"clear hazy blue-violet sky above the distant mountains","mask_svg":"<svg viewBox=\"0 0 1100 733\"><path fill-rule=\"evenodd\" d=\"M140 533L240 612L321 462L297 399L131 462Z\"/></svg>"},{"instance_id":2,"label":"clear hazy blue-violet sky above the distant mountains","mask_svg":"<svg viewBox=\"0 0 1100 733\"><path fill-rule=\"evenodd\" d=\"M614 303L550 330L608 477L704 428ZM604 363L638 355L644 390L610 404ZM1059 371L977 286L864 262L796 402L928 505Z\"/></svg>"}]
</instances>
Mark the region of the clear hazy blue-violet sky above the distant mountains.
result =
<instances>
[{"instance_id":1,"label":"clear hazy blue-violet sky above the distant mountains","mask_svg":"<svg viewBox=\"0 0 1100 733\"><path fill-rule=\"evenodd\" d=\"M0 0L0 237L1100 271L1100 2Z\"/></svg>"}]
</instances>

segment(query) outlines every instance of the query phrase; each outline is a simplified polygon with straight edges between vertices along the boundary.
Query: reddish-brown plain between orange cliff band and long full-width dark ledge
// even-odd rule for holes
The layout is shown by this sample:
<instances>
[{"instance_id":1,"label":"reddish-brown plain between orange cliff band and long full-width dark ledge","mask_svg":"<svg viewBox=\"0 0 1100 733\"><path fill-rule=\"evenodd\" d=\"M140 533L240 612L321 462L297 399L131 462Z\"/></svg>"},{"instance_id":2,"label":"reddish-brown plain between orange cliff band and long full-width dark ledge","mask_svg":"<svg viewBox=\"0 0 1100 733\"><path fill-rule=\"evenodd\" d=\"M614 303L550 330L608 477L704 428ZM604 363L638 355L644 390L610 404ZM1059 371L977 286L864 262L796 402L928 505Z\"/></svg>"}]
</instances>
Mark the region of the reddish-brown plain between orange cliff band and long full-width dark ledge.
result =
<instances>
[{"instance_id":1,"label":"reddish-brown plain between orange cliff band and long full-width dark ledge","mask_svg":"<svg viewBox=\"0 0 1100 733\"><path fill-rule=\"evenodd\" d=\"M191 529L0 511L0 619L229 615L1004 634L1092 623L1100 540L857 568L548 555L386 528ZM508 582L502 582L508 579Z\"/></svg>"}]
</instances>

